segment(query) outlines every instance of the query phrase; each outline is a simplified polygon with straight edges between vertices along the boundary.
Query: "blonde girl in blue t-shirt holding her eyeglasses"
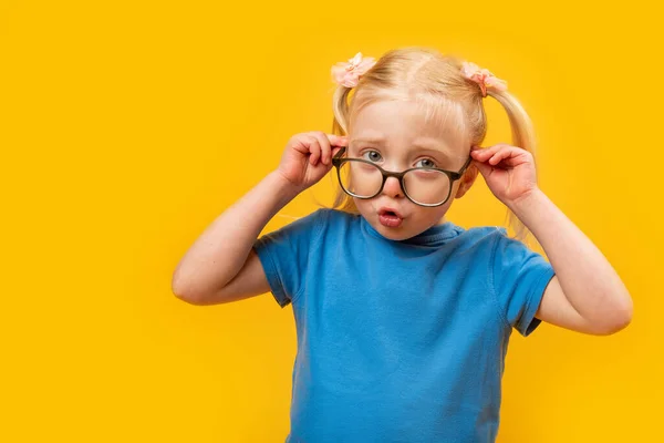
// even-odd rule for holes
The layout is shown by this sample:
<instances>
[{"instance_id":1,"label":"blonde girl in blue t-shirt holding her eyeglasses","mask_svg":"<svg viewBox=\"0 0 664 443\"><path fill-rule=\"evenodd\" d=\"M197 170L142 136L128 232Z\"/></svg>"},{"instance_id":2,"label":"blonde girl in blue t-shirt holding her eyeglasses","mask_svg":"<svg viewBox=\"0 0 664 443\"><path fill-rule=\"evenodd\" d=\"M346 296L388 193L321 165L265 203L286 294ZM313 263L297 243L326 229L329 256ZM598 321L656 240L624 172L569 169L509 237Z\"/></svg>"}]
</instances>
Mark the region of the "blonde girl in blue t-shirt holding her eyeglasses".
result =
<instances>
[{"instance_id":1,"label":"blonde girl in blue t-shirt holding her eyeglasses","mask_svg":"<svg viewBox=\"0 0 664 443\"><path fill-rule=\"evenodd\" d=\"M492 442L512 328L610 334L630 322L631 297L537 186L530 122L506 82L424 48L359 53L332 71L336 135L293 136L187 251L173 290L195 305L268 291L292 305L287 442ZM513 146L478 147L487 96ZM257 238L332 168L335 209ZM550 264L506 229L445 219L478 173Z\"/></svg>"}]
</instances>

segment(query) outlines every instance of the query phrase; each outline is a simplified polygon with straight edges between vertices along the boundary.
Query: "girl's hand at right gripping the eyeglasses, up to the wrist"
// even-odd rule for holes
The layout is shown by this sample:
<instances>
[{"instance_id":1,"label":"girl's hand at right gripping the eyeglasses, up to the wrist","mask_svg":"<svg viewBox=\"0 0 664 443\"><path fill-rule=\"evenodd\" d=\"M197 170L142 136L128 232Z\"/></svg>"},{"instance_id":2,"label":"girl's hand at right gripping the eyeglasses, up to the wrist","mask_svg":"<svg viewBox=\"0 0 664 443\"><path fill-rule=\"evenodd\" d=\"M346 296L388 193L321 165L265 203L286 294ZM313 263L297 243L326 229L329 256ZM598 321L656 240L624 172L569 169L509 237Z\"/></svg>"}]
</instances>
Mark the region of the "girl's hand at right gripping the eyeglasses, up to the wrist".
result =
<instances>
[{"instance_id":1,"label":"girl's hand at right gripping the eyeglasses, up to the wrist","mask_svg":"<svg viewBox=\"0 0 664 443\"><path fill-rule=\"evenodd\" d=\"M474 146L470 155L491 193L506 206L537 189L535 159L528 151L497 144L486 148Z\"/></svg>"}]
</instances>

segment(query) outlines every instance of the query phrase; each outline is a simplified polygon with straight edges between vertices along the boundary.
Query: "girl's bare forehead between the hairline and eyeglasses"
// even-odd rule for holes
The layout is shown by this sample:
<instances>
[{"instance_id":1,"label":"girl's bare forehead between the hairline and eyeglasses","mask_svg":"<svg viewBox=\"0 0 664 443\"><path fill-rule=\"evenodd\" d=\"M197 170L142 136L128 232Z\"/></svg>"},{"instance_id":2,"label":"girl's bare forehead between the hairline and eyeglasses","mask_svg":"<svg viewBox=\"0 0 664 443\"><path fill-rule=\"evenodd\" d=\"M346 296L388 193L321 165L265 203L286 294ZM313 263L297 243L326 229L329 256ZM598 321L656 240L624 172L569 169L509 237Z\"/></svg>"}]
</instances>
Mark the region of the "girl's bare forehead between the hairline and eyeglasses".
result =
<instances>
[{"instance_id":1,"label":"girl's bare forehead between the hairline and eyeglasses","mask_svg":"<svg viewBox=\"0 0 664 443\"><path fill-rule=\"evenodd\" d=\"M354 113L349 135L351 147L375 143L465 155L469 141L463 123L458 106L382 100Z\"/></svg>"}]
</instances>

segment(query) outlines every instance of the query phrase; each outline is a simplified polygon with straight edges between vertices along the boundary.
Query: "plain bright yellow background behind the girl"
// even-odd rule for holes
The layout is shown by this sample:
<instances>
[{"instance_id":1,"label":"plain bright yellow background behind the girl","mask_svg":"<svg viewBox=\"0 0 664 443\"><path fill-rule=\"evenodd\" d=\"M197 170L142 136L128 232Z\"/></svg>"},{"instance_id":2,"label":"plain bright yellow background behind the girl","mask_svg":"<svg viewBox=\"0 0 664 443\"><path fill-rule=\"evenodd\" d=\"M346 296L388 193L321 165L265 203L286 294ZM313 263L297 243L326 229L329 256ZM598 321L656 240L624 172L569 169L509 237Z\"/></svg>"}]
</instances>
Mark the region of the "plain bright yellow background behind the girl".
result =
<instances>
[{"instance_id":1,"label":"plain bright yellow background behind the girl","mask_svg":"<svg viewBox=\"0 0 664 443\"><path fill-rule=\"evenodd\" d=\"M541 187L635 301L616 336L513 336L499 442L663 439L661 11L606 4L1 1L0 441L282 442L291 308L193 307L172 271L292 134L330 130L334 62L409 44L509 82ZM449 215L505 212L479 179Z\"/></svg>"}]
</instances>

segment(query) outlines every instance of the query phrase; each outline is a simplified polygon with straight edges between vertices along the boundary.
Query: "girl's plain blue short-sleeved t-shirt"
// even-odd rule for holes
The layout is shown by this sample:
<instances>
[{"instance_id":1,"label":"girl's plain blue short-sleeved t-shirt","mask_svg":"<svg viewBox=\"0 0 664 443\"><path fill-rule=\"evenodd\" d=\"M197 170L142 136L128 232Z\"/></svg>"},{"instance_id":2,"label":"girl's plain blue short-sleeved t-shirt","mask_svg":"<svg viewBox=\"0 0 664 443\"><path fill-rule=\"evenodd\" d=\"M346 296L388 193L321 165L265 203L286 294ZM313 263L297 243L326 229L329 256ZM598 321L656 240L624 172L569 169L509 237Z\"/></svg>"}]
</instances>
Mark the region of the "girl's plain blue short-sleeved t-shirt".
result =
<instances>
[{"instance_id":1,"label":"girl's plain blue short-sleeved t-shirt","mask_svg":"<svg viewBox=\"0 0 664 443\"><path fill-rule=\"evenodd\" d=\"M287 442L494 442L512 328L553 269L504 228L447 222L390 240L319 209L255 249L298 352Z\"/></svg>"}]
</instances>

